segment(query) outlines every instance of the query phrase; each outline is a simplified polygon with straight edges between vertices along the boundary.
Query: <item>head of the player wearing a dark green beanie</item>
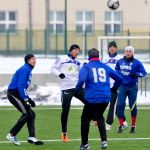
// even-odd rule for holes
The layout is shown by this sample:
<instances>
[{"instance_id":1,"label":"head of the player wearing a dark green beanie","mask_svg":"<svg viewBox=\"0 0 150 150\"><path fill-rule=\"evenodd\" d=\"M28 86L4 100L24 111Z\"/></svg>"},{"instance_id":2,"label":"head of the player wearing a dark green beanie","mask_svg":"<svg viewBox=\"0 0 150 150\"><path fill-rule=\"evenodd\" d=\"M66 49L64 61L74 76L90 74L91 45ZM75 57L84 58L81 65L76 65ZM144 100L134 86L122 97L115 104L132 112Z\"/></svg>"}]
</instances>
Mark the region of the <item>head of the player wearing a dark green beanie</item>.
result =
<instances>
[{"instance_id":1,"label":"head of the player wearing a dark green beanie","mask_svg":"<svg viewBox=\"0 0 150 150\"><path fill-rule=\"evenodd\" d=\"M118 47L117 47L117 43L115 41L111 41L108 43L108 53L109 55L114 55L115 53L117 53L118 51Z\"/></svg>"}]
</instances>

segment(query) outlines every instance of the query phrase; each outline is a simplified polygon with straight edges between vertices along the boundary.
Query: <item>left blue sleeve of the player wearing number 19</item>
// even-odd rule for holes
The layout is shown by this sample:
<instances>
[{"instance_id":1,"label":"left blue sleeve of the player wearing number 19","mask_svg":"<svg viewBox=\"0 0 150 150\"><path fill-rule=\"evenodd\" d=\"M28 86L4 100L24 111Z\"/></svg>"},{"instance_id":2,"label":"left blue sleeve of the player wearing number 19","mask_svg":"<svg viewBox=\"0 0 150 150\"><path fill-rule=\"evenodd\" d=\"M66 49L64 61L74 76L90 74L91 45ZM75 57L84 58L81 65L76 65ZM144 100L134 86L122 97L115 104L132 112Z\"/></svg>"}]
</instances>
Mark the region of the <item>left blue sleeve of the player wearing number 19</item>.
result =
<instances>
[{"instance_id":1,"label":"left blue sleeve of the player wearing number 19","mask_svg":"<svg viewBox=\"0 0 150 150\"><path fill-rule=\"evenodd\" d=\"M88 70L86 68L86 65L84 65L79 71L79 79L76 85L76 91L80 91L82 89L82 86L86 82L87 77L88 77Z\"/></svg>"}]
</instances>

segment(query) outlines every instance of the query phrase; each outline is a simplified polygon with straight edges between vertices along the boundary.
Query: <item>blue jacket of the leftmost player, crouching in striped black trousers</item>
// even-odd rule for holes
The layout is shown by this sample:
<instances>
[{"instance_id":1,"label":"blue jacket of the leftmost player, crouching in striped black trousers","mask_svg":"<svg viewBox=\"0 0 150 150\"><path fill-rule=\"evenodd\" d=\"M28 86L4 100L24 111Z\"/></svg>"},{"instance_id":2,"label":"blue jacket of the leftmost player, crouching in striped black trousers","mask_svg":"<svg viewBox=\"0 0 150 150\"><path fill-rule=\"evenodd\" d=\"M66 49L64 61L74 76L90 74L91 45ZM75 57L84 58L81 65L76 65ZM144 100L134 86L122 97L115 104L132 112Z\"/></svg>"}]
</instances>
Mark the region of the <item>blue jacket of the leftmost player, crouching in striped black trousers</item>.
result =
<instances>
[{"instance_id":1,"label":"blue jacket of the leftmost player, crouching in striped black trousers","mask_svg":"<svg viewBox=\"0 0 150 150\"><path fill-rule=\"evenodd\" d=\"M33 67L29 64L24 64L15 72L8 86L8 89L18 90L21 98L24 100L29 98L26 91L31 83L32 69Z\"/></svg>"}]
</instances>

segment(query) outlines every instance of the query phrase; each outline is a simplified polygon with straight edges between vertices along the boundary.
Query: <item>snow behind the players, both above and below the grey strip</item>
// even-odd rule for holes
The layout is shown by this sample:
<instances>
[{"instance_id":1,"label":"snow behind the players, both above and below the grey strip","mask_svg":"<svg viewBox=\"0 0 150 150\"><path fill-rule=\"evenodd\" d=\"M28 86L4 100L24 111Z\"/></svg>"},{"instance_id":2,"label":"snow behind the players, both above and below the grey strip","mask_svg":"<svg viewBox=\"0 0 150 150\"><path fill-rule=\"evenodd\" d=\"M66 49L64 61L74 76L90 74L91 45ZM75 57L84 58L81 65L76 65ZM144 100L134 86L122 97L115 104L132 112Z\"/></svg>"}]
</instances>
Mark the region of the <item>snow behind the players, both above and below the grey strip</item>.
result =
<instances>
[{"instance_id":1,"label":"snow behind the players, both above and below the grey strip","mask_svg":"<svg viewBox=\"0 0 150 150\"><path fill-rule=\"evenodd\" d=\"M0 73L1 74L13 74L17 68L19 68L24 60L22 57L0 57ZM51 66L54 64L55 59L50 58L37 58L37 64L33 73L50 73ZM150 65L144 64L146 71L150 73ZM11 105L6 97L7 86L0 87L0 106ZM58 83L46 83L43 86L32 85L29 89L29 95L35 100L37 105L61 105L60 87ZM150 104L150 92L142 93L138 92L137 104ZM128 104L128 102L127 102ZM73 98L72 105L82 105L82 103Z\"/></svg>"}]
</instances>

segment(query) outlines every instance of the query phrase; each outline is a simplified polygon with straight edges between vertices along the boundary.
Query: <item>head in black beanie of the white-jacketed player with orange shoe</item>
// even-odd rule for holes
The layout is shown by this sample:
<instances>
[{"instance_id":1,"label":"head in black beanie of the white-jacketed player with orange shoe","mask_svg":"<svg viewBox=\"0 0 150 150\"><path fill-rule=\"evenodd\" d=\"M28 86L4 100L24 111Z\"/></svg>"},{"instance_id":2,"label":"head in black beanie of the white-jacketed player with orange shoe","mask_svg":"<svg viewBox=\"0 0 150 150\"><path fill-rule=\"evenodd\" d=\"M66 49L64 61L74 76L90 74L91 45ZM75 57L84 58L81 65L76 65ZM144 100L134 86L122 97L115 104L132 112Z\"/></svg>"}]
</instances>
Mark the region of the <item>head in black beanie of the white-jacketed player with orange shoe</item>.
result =
<instances>
[{"instance_id":1,"label":"head in black beanie of the white-jacketed player with orange shoe","mask_svg":"<svg viewBox=\"0 0 150 150\"><path fill-rule=\"evenodd\" d=\"M73 57L73 58L77 58L78 54L80 52L80 47L77 44L72 44L70 46L69 49L69 54Z\"/></svg>"}]
</instances>

